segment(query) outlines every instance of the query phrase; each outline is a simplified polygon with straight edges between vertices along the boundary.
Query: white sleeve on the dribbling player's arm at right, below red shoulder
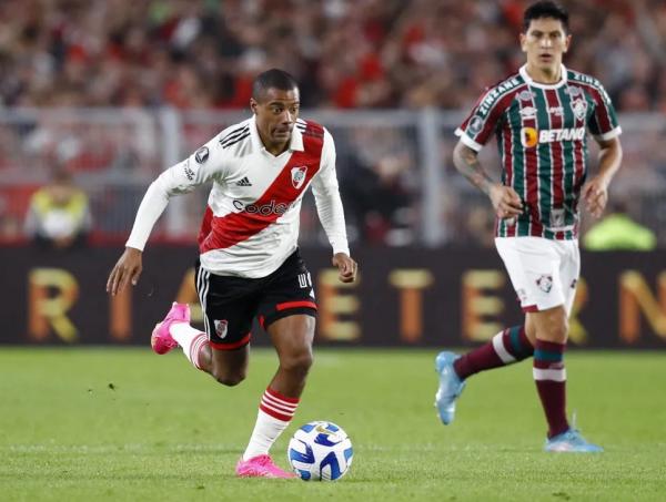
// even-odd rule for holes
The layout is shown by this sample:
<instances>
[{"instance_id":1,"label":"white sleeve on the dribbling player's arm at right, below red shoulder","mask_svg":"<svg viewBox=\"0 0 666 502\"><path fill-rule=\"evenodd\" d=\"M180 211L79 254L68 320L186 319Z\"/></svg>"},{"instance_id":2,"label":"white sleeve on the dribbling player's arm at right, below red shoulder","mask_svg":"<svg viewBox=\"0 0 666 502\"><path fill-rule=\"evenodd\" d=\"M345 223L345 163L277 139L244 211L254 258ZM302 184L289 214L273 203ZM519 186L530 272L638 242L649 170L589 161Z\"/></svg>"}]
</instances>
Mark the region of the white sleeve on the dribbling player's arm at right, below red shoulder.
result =
<instances>
[{"instance_id":1,"label":"white sleeve on the dribbling player's arm at right, below red shoulder","mask_svg":"<svg viewBox=\"0 0 666 502\"><path fill-rule=\"evenodd\" d=\"M324 144L320 171L312 180L312 193L316 204L316 212L333 247L333 254L350 254L344 211L337 186L335 172L335 144L333 136L324 129Z\"/></svg>"}]
</instances>

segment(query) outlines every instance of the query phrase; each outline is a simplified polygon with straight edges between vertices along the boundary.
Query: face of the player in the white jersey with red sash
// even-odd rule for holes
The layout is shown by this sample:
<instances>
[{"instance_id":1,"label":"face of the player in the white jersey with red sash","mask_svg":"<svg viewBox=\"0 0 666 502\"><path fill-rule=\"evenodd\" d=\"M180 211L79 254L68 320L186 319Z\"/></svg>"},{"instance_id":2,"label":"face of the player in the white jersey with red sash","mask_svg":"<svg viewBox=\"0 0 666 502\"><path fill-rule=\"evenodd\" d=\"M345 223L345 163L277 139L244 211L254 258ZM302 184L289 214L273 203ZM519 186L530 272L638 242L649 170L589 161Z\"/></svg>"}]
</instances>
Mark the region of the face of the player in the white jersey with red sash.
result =
<instances>
[{"instance_id":1,"label":"face of the player in the white jersey with red sash","mask_svg":"<svg viewBox=\"0 0 666 502\"><path fill-rule=\"evenodd\" d=\"M283 91L270 88L258 100L250 100L259 135L271 153L282 152L290 142L299 117L299 98L297 89Z\"/></svg>"}]
</instances>

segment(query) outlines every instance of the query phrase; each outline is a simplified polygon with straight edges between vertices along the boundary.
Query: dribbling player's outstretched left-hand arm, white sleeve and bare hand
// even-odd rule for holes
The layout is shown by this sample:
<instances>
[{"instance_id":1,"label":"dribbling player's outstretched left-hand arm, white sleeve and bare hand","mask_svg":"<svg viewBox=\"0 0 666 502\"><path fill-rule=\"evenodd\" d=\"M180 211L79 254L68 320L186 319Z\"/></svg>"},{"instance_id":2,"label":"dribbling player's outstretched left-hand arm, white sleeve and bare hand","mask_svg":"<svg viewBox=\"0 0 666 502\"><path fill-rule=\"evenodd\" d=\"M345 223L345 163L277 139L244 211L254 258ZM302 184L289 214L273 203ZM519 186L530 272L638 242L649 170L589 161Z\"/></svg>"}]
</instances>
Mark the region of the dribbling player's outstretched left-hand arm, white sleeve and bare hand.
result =
<instances>
[{"instance_id":1,"label":"dribbling player's outstretched left-hand arm, white sleeve and bare hand","mask_svg":"<svg viewBox=\"0 0 666 502\"><path fill-rule=\"evenodd\" d=\"M115 295L122 291L128 283L137 285L143 269L143 248L169 199L173 195L189 193L216 176L222 165L220 151L218 140L213 139L183 162L164 171L151 183L137 212L125 249L109 274L107 293Z\"/></svg>"}]
</instances>

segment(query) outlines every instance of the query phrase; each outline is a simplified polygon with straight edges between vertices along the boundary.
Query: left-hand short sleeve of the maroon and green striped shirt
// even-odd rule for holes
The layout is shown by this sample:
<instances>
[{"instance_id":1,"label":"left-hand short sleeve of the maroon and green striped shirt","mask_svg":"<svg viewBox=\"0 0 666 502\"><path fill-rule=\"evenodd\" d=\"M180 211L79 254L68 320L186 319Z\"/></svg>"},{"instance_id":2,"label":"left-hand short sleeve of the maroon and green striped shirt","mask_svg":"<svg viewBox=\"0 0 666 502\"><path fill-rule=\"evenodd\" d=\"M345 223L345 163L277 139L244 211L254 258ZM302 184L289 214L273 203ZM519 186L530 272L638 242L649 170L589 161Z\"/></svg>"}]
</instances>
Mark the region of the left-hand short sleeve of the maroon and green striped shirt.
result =
<instances>
[{"instance_id":1,"label":"left-hand short sleeve of the maroon and green striped shirt","mask_svg":"<svg viewBox=\"0 0 666 502\"><path fill-rule=\"evenodd\" d=\"M478 99L472 113L455 130L455 135L465 145L480 152L495 131L503 109L500 95L494 88L486 90Z\"/></svg>"}]
</instances>

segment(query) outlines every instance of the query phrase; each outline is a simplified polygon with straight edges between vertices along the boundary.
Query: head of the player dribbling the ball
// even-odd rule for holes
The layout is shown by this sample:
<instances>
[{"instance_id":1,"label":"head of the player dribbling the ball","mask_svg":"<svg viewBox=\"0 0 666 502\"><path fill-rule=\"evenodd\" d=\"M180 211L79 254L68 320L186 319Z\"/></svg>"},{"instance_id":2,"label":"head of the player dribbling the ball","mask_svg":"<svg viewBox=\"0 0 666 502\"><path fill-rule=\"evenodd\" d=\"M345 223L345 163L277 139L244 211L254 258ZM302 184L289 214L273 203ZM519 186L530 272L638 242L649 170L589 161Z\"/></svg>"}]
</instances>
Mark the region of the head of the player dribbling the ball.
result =
<instances>
[{"instance_id":1,"label":"head of the player dribbling the ball","mask_svg":"<svg viewBox=\"0 0 666 502\"><path fill-rule=\"evenodd\" d=\"M265 71L254 79L250 107L264 146L284 146L299 117L299 84L285 71Z\"/></svg>"}]
</instances>

